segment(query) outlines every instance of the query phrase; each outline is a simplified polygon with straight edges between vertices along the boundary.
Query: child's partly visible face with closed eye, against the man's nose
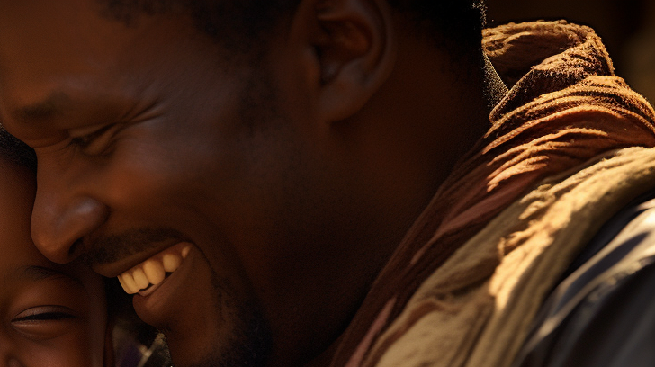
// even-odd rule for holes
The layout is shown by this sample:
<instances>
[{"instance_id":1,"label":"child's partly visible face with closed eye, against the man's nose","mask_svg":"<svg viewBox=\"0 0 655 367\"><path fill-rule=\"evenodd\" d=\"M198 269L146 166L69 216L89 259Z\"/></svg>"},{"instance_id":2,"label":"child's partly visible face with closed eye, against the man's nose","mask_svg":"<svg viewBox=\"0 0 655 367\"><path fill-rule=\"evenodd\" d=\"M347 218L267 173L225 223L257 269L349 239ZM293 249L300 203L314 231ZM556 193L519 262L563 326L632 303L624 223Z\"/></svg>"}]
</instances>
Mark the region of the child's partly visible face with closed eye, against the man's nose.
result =
<instances>
[{"instance_id":1,"label":"child's partly visible face with closed eye, against the man's nose","mask_svg":"<svg viewBox=\"0 0 655 367\"><path fill-rule=\"evenodd\" d=\"M31 173L0 159L0 366L103 365L102 279L31 242Z\"/></svg>"}]
</instances>

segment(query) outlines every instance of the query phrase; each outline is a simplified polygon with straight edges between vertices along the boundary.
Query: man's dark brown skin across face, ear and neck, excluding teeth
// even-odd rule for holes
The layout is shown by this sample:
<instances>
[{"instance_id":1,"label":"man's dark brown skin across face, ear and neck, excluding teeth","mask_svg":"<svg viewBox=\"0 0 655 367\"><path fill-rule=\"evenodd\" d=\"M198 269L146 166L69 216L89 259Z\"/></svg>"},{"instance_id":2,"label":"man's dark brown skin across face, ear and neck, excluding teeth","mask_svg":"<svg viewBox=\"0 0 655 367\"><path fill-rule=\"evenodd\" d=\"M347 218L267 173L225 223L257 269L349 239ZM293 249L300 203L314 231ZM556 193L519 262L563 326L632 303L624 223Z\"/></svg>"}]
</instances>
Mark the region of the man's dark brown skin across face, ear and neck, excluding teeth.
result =
<instances>
[{"instance_id":1,"label":"man's dark brown skin across face, ear and neck, excluding teeth","mask_svg":"<svg viewBox=\"0 0 655 367\"><path fill-rule=\"evenodd\" d=\"M0 116L39 159L36 245L114 277L191 244L133 300L178 366L329 362L487 128L483 80L385 0L302 1L257 64L186 17L126 27L96 6L0 4Z\"/></svg>"}]
</instances>

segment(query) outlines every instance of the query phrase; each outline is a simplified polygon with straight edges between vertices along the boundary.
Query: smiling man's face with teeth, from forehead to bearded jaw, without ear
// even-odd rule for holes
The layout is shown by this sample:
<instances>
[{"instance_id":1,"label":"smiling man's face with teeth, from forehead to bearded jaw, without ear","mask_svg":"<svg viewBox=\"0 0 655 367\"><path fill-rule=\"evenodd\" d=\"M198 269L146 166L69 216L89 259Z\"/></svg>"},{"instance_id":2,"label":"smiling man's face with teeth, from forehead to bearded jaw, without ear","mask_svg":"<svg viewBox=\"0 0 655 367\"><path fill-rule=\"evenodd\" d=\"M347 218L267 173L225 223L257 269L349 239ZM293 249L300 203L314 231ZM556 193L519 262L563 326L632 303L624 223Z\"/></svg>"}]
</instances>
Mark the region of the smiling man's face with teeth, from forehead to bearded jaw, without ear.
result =
<instances>
[{"instance_id":1,"label":"smiling man's face with teeth, from forehead to bearded jaw, without ear","mask_svg":"<svg viewBox=\"0 0 655 367\"><path fill-rule=\"evenodd\" d=\"M40 251L119 276L178 365L316 354L353 297L325 283L344 201L300 67L228 64L190 19L96 6L0 4L0 120L38 156Z\"/></svg>"}]
</instances>

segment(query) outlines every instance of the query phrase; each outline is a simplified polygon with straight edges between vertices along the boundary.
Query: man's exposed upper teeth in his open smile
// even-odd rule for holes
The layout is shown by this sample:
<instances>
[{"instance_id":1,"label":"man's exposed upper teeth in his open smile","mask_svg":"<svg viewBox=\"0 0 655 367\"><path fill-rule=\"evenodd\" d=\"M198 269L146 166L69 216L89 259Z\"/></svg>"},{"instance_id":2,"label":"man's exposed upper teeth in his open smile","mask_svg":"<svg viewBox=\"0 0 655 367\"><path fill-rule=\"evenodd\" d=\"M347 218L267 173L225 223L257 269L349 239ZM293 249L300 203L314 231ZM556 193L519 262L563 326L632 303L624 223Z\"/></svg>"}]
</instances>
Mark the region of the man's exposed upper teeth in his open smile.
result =
<instances>
[{"instance_id":1,"label":"man's exposed upper teeth in his open smile","mask_svg":"<svg viewBox=\"0 0 655 367\"><path fill-rule=\"evenodd\" d=\"M164 281L166 273L173 273L180 267L182 260L189 255L191 245L173 246L152 256L143 263L131 268L125 273L118 276L123 290L129 294L145 290L152 285L157 285Z\"/></svg>"}]
</instances>

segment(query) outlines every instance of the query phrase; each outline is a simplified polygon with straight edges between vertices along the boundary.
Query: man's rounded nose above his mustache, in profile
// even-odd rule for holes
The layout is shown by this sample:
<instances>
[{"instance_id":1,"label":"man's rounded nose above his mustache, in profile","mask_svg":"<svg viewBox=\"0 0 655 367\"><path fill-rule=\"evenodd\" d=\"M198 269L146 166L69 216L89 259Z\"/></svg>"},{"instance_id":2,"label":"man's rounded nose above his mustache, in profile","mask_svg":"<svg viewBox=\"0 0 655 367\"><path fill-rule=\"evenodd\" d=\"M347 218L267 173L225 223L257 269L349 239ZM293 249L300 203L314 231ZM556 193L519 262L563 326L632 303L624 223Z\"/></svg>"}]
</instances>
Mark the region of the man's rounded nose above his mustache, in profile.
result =
<instances>
[{"instance_id":1,"label":"man's rounded nose above his mustache, in profile","mask_svg":"<svg viewBox=\"0 0 655 367\"><path fill-rule=\"evenodd\" d=\"M63 175L59 175L63 174ZM100 227L108 210L88 193L84 180L39 165L31 214L31 237L55 263L69 263L84 252L84 237Z\"/></svg>"}]
</instances>

